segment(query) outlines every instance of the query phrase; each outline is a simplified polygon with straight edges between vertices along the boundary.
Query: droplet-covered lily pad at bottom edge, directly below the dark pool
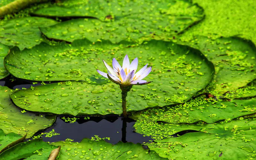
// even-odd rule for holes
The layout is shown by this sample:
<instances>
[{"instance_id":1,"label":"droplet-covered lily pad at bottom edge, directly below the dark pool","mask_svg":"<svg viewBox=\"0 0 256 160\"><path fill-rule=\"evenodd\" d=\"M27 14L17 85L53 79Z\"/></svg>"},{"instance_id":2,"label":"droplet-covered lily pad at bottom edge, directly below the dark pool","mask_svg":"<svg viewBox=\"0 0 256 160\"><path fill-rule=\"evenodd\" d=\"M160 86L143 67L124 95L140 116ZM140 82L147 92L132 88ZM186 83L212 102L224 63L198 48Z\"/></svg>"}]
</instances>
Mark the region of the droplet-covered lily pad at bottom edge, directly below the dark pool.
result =
<instances>
[{"instance_id":1,"label":"droplet-covered lily pad at bottom edge, directly below the dark pool","mask_svg":"<svg viewBox=\"0 0 256 160\"><path fill-rule=\"evenodd\" d=\"M141 144L118 142L113 145L104 140L92 141L84 138L81 142L59 141L52 143L61 146L60 160L67 159L166 159L155 151L144 149ZM77 152L76 152L77 151ZM74 154L74 152L76 154Z\"/></svg>"}]
</instances>

